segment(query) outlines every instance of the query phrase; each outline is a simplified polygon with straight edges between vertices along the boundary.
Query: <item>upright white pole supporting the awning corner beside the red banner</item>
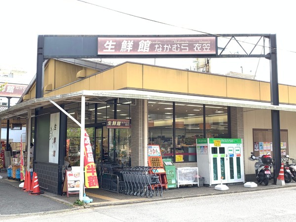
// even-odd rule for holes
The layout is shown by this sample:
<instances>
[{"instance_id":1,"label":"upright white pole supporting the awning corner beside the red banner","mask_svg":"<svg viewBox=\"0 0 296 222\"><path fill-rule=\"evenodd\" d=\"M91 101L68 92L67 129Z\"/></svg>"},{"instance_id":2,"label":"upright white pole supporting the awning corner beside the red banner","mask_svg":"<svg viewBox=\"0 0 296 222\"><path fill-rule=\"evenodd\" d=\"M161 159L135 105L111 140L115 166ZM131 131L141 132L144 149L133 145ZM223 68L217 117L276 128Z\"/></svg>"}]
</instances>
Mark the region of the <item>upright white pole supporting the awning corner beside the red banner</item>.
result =
<instances>
[{"instance_id":1,"label":"upright white pole supporting the awning corner beside the red banner","mask_svg":"<svg viewBox=\"0 0 296 222\"><path fill-rule=\"evenodd\" d=\"M81 96L81 128L80 128L80 184L79 200L83 200L84 191L84 130L85 130L85 96Z\"/></svg>"}]
</instances>

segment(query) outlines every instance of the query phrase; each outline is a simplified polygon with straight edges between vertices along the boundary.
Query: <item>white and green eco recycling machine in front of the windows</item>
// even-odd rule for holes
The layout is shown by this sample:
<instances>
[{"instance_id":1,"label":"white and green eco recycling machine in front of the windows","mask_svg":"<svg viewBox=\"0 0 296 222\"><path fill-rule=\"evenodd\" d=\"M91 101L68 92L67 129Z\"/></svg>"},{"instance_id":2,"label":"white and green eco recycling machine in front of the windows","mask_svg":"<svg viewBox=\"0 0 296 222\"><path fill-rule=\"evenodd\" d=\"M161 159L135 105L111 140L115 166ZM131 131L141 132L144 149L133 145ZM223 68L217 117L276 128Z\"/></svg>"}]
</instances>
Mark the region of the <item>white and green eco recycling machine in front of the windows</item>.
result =
<instances>
[{"instance_id":1,"label":"white and green eco recycling machine in front of the windows","mask_svg":"<svg viewBox=\"0 0 296 222\"><path fill-rule=\"evenodd\" d=\"M242 139L196 139L196 155L205 185L245 182Z\"/></svg>"}]
</instances>

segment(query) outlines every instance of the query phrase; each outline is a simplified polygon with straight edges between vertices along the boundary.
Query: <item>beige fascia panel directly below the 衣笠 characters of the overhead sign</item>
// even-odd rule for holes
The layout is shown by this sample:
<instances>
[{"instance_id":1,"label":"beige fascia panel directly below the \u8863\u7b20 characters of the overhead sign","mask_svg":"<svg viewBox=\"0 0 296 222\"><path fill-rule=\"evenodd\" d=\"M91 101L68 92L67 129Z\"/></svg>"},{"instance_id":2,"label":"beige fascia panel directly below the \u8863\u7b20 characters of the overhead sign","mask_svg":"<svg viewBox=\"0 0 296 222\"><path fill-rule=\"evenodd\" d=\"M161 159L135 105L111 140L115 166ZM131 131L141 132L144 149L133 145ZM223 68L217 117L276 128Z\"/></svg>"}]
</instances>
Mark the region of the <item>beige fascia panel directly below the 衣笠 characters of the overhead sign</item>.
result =
<instances>
[{"instance_id":1,"label":"beige fascia panel directly below the \u8863\u7b20 characters of the overhead sign","mask_svg":"<svg viewBox=\"0 0 296 222\"><path fill-rule=\"evenodd\" d=\"M188 93L226 97L226 77L188 72Z\"/></svg>"}]
</instances>

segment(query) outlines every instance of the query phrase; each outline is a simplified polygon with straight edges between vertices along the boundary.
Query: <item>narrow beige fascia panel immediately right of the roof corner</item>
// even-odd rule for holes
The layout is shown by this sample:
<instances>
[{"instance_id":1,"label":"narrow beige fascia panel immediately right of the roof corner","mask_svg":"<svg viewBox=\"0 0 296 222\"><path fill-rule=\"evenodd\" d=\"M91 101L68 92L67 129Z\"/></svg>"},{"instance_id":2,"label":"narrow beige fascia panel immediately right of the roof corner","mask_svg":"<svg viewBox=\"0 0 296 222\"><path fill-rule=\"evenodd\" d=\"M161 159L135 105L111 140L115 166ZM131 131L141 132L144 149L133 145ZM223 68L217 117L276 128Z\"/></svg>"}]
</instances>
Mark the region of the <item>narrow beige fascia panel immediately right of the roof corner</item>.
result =
<instances>
[{"instance_id":1,"label":"narrow beige fascia panel immediately right of the roof corner","mask_svg":"<svg viewBox=\"0 0 296 222\"><path fill-rule=\"evenodd\" d=\"M127 66L127 87L143 88L143 65L128 63Z\"/></svg>"}]
</instances>

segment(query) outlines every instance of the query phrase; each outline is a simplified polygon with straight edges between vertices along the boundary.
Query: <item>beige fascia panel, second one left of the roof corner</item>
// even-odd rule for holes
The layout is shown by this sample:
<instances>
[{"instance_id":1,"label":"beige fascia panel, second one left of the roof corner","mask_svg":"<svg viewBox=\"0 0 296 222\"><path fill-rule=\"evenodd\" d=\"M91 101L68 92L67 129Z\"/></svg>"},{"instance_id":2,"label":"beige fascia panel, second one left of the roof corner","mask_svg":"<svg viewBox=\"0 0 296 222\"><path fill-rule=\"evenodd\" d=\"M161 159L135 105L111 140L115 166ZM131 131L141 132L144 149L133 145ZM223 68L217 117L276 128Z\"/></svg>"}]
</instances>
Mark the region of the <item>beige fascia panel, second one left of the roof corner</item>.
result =
<instances>
[{"instance_id":1,"label":"beige fascia panel, second one left of the roof corner","mask_svg":"<svg viewBox=\"0 0 296 222\"><path fill-rule=\"evenodd\" d=\"M106 72L96 74L95 90L114 90L113 69Z\"/></svg>"}]
</instances>

